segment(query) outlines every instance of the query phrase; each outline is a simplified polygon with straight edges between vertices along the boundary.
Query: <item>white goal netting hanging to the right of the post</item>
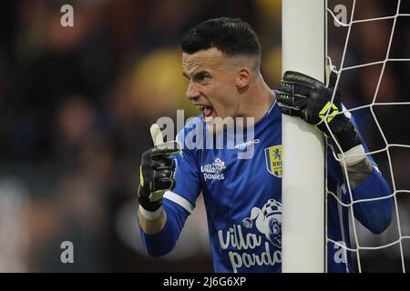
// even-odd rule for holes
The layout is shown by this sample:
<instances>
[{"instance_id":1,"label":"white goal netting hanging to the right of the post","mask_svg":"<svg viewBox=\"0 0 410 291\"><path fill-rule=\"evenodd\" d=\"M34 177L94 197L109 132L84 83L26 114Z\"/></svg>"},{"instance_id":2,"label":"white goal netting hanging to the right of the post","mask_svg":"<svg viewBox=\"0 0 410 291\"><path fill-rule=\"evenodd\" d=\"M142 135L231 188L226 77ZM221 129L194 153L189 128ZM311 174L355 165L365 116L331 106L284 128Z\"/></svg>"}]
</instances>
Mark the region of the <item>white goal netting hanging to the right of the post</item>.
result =
<instances>
[{"instance_id":1,"label":"white goal netting hanging to the right of the post","mask_svg":"<svg viewBox=\"0 0 410 291\"><path fill-rule=\"evenodd\" d=\"M370 154L392 189L389 196L354 201L350 186L333 193L326 185L327 196L333 196L340 209L348 207L350 218L354 217L354 204L394 198L394 221L383 234L372 235L350 219L352 247L327 237L328 242L355 256L359 272L405 272L405 262L410 259L407 229L410 228L410 179L406 179L410 173L410 97L405 90L409 89L405 80L410 73L410 54L405 54L410 52L410 9L406 11L409 2L328 0L326 3L327 45L336 65L336 85L342 88L343 104L356 118ZM334 9L336 5L339 6ZM340 5L347 8L350 19L347 23L340 21L343 18ZM343 204L343 193L350 195L353 202Z\"/></svg>"}]
</instances>

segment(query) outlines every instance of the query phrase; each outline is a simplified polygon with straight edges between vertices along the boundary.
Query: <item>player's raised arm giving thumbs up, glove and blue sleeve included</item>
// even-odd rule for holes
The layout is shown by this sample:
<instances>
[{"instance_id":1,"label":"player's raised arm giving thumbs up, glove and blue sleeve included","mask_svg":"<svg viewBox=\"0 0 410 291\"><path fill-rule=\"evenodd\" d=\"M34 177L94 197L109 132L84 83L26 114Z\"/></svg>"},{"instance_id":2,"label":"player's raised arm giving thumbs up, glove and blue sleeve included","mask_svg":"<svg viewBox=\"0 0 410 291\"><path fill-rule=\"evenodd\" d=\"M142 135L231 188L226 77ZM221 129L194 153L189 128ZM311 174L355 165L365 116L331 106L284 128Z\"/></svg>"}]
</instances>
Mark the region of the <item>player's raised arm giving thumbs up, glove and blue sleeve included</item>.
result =
<instances>
[{"instance_id":1,"label":"player's raised arm giving thumbs up, glove and blue sleeve included","mask_svg":"<svg viewBox=\"0 0 410 291\"><path fill-rule=\"evenodd\" d=\"M143 246L150 256L159 257L175 247L199 194L199 177L191 166L195 163L185 160L188 153L175 155L180 142L164 144L158 125L151 126L151 135L156 146L141 158L138 222ZM170 191L174 189L184 196Z\"/></svg>"}]
</instances>

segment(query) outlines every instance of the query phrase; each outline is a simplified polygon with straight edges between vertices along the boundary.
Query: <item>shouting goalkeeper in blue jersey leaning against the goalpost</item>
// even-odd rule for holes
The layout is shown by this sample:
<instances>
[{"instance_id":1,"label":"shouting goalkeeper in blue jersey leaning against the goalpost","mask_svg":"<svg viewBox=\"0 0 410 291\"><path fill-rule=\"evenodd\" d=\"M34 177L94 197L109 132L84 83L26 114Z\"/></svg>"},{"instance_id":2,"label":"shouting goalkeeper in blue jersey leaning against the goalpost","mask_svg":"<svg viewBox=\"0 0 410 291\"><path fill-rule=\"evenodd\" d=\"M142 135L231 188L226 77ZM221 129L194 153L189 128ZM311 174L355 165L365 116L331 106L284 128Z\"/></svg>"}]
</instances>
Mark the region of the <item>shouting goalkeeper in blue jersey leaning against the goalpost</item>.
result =
<instances>
[{"instance_id":1,"label":"shouting goalkeeper in blue jersey leaning against the goalpost","mask_svg":"<svg viewBox=\"0 0 410 291\"><path fill-rule=\"evenodd\" d=\"M181 47L183 75L189 80L187 97L200 115L177 135L182 149L177 142L164 144L158 125L151 127L154 147L142 156L138 188L138 222L151 256L164 256L173 249L202 193L214 270L281 272L282 114L316 125L329 138L328 188L343 203L351 202L346 183L354 201L390 195L373 158L365 155L367 148L353 116L343 112L334 74L324 85L308 75L286 72L273 91L261 76L258 37L238 18L196 25L184 35ZM328 115L325 123L323 110L329 106L340 114ZM254 138L235 149L192 149L186 144L183 136L202 127L206 135L216 117L253 117ZM253 156L238 159L236 153L246 146L254 146ZM354 155L345 158L347 173L333 152ZM338 207L333 196L327 201L327 236L351 246L348 207ZM392 220L392 198L353 207L355 218L375 234ZM335 256L338 249L328 242L328 271L353 272L351 257Z\"/></svg>"}]
</instances>

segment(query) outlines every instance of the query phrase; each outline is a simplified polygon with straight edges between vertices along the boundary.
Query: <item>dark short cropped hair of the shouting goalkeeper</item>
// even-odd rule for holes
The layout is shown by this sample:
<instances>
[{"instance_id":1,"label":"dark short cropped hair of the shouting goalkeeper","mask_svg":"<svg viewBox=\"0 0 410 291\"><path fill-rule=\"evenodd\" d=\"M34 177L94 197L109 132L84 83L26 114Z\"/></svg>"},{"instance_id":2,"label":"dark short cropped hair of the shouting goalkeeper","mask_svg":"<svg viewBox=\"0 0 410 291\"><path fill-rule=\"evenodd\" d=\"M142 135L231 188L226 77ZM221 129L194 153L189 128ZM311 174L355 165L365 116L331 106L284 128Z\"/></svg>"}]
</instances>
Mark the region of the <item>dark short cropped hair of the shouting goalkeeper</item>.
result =
<instances>
[{"instance_id":1,"label":"dark short cropped hair of the shouting goalkeeper","mask_svg":"<svg viewBox=\"0 0 410 291\"><path fill-rule=\"evenodd\" d=\"M182 52L218 48L225 55L261 55L258 35L240 18L220 17L201 22L182 38Z\"/></svg>"}]
</instances>

